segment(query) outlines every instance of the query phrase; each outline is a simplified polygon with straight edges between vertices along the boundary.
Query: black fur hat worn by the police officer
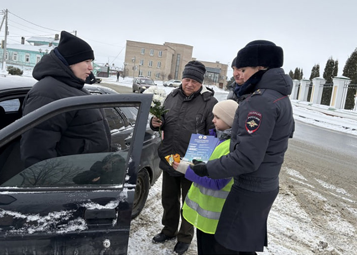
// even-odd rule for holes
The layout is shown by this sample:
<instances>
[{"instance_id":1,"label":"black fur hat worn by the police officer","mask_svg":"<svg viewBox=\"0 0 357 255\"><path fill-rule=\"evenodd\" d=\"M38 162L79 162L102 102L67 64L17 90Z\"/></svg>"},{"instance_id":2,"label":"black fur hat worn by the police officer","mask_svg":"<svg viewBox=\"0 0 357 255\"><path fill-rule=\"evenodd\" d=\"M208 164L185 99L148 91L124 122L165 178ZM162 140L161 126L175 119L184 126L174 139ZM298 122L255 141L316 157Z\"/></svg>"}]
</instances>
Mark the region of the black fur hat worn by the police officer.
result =
<instances>
[{"instance_id":1,"label":"black fur hat worn by the police officer","mask_svg":"<svg viewBox=\"0 0 357 255\"><path fill-rule=\"evenodd\" d=\"M266 40L251 41L241 49L235 60L235 67L256 67L268 68L282 67L284 62L283 49L275 43Z\"/></svg>"}]
</instances>

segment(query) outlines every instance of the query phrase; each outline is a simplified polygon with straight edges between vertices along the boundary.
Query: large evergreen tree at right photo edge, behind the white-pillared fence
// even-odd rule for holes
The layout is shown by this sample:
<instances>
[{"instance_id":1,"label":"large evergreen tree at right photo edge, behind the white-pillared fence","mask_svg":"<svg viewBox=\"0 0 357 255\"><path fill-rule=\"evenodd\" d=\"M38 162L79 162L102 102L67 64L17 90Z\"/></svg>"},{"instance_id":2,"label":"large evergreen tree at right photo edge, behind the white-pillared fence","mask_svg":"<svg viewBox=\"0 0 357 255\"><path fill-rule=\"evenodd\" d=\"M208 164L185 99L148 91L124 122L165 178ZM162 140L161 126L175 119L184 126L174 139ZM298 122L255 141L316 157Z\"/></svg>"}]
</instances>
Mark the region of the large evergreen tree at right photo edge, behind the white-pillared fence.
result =
<instances>
[{"instance_id":1,"label":"large evergreen tree at right photo edge, behind the white-pillared fence","mask_svg":"<svg viewBox=\"0 0 357 255\"><path fill-rule=\"evenodd\" d=\"M346 64L343 68L343 76L351 79L351 84L357 84L357 48L347 58ZM348 89L345 109L354 109L355 107L356 89Z\"/></svg>"}]
</instances>

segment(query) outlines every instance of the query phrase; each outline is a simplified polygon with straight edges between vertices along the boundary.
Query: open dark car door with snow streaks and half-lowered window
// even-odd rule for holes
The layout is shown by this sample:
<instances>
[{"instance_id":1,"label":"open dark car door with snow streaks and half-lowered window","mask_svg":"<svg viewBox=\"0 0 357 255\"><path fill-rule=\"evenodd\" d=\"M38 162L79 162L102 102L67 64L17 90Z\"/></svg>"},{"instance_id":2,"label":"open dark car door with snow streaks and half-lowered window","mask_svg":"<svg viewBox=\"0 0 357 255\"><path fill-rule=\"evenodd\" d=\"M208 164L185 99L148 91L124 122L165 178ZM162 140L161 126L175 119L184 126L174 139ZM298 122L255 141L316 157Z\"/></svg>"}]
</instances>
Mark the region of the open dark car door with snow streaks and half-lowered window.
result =
<instances>
[{"instance_id":1,"label":"open dark car door with snow streaks and half-lowered window","mask_svg":"<svg viewBox=\"0 0 357 255\"><path fill-rule=\"evenodd\" d=\"M151 100L151 94L70 97L0 130L0 176L6 176L0 181L0 254L127 253ZM19 139L25 131L67 111L115 107L138 107L127 150L21 165ZM91 180L97 168L100 178Z\"/></svg>"}]
</instances>

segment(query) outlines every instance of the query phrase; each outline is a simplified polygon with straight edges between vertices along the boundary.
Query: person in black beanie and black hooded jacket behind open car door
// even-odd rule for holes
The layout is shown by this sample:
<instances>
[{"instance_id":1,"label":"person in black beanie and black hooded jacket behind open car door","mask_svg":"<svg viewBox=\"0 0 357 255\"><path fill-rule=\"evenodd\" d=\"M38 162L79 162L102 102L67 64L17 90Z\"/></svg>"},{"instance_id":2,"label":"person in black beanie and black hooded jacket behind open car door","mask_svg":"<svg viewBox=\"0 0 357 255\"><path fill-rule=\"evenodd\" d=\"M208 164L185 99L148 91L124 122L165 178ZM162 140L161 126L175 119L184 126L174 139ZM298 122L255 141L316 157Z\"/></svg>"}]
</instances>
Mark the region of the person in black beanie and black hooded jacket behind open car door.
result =
<instances>
[{"instance_id":1,"label":"person in black beanie and black hooded jacket behind open car door","mask_svg":"<svg viewBox=\"0 0 357 255\"><path fill-rule=\"evenodd\" d=\"M87 42L62 31L58 47L44 55L33 70L38 82L24 99L23 115L61 98L89 95L83 86L93 70L93 60ZM20 141L25 167L58 156L105 152L110 147L110 129L100 109L56 115L25 132Z\"/></svg>"}]
</instances>

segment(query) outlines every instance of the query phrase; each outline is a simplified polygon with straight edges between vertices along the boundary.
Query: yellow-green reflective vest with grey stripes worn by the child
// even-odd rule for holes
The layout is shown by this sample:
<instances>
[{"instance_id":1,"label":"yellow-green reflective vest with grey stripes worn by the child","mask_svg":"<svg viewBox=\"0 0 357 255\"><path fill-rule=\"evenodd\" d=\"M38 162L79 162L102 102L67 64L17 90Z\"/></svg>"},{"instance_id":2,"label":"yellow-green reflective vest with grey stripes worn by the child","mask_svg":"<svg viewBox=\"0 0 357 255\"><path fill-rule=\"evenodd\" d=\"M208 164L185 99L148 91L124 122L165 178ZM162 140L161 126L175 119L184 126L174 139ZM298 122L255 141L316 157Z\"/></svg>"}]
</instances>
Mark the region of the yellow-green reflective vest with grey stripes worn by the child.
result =
<instances>
[{"instance_id":1,"label":"yellow-green reflective vest with grey stripes worn by the child","mask_svg":"<svg viewBox=\"0 0 357 255\"><path fill-rule=\"evenodd\" d=\"M215 147L210 160L227 155L231 139ZM204 233L214 234L218 219L231 190L233 178L220 190L213 190L193 182L182 206L183 217Z\"/></svg>"}]
</instances>

